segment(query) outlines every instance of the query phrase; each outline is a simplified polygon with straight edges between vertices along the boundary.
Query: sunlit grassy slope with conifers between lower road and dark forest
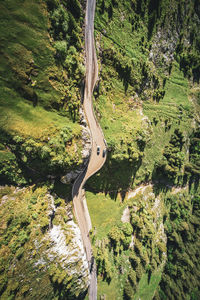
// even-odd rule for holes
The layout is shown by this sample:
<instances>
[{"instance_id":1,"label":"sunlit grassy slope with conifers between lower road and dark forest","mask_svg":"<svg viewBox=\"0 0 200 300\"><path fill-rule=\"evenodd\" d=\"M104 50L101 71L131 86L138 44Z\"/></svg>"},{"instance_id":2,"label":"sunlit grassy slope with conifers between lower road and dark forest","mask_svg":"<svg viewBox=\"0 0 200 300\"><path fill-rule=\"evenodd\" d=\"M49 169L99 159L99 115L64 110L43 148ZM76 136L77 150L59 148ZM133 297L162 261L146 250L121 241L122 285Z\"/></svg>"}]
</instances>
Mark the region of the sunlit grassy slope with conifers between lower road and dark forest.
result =
<instances>
[{"instance_id":1,"label":"sunlit grassy slope with conifers between lower road and dark forest","mask_svg":"<svg viewBox=\"0 0 200 300\"><path fill-rule=\"evenodd\" d=\"M155 198L152 187L145 188L143 194L137 193L134 198L125 198L123 202L121 197L114 201L103 194L86 195L92 215L91 238L99 295L132 299L135 293L142 297L151 291L153 296L166 259L166 240L161 221L164 212L155 208L160 200ZM116 215L108 210L111 202ZM130 223L123 223L122 211L127 207ZM108 211L109 218L106 217ZM145 278L148 278L146 289Z\"/></svg>"}]
</instances>

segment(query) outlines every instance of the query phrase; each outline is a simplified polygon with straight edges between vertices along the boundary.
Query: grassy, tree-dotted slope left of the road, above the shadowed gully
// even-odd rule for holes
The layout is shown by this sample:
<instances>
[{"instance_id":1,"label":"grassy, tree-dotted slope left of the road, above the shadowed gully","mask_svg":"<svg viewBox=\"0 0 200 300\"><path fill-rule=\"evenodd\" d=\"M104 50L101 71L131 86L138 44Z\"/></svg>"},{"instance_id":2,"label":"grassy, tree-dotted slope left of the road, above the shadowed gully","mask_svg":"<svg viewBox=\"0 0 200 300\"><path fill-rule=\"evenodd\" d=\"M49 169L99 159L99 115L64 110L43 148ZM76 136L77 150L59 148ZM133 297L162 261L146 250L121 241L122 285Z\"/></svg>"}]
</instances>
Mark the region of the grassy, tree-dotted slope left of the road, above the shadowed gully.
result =
<instances>
[{"instance_id":1,"label":"grassy, tree-dotted slope left of the road, above the shadowed gully","mask_svg":"<svg viewBox=\"0 0 200 300\"><path fill-rule=\"evenodd\" d=\"M75 4L71 11L61 1L0 4L3 182L45 180L81 163L81 7Z\"/></svg>"}]
</instances>

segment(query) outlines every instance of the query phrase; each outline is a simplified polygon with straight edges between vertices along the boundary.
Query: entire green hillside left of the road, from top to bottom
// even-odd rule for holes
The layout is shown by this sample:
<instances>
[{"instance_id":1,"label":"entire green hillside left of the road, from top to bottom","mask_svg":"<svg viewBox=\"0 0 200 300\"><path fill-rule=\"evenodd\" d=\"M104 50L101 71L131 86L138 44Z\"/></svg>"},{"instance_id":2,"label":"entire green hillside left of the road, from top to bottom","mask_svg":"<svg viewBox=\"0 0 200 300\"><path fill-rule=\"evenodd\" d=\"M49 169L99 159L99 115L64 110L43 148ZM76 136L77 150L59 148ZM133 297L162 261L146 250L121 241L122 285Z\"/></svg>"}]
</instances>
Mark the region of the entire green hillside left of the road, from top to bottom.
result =
<instances>
[{"instance_id":1,"label":"entire green hillside left of the road, from top to bottom","mask_svg":"<svg viewBox=\"0 0 200 300\"><path fill-rule=\"evenodd\" d=\"M88 156L82 4L0 4L1 299L80 299L89 285L70 203Z\"/></svg>"}]
</instances>

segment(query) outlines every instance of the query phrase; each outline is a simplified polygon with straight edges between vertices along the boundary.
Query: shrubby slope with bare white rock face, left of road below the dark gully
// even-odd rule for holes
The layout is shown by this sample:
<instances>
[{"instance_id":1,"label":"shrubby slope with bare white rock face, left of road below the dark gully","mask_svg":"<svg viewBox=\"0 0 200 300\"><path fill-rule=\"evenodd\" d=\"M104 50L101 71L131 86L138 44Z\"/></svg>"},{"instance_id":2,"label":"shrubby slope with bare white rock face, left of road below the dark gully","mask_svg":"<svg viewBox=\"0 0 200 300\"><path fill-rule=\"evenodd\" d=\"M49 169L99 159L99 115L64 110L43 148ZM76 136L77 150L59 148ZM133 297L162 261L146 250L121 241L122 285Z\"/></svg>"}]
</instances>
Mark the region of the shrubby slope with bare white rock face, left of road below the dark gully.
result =
<instances>
[{"instance_id":1,"label":"shrubby slope with bare white rock face, left of road below the dark gully","mask_svg":"<svg viewBox=\"0 0 200 300\"><path fill-rule=\"evenodd\" d=\"M5 186L0 206L0 298L81 299L90 275L70 204L45 187Z\"/></svg>"}]
</instances>

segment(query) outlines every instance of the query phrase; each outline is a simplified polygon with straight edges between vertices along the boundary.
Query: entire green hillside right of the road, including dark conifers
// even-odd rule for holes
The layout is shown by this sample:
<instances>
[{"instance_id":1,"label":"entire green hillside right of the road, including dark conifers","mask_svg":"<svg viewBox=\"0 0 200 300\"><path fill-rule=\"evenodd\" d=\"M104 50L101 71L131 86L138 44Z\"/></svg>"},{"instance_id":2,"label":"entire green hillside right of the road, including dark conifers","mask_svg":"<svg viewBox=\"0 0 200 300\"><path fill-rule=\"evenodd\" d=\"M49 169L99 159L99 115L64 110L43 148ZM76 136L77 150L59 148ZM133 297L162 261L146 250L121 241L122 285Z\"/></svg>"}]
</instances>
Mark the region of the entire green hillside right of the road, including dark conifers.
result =
<instances>
[{"instance_id":1,"label":"entire green hillside right of the road, including dark conifers","mask_svg":"<svg viewBox=\"0 0 200 300\"><path fill-rule=\"evenodd\" d=\"M199 267L191 275L191 262L177 257L190 251L194 263L199 252L177 246L174 232L181 241L185 222L187 245L198 238L189 220L198 228L191 199L199 199L199 24L197 1L98 2L95 107L110 151L87 189L99 295L152 299L156 288L161 299L198 295ZM128 199L137 187L141 195ZM174 189L182 199L176 208ZM179 272L187 284L184 276L177 281Z\"/></svg>"}]
</instances>

